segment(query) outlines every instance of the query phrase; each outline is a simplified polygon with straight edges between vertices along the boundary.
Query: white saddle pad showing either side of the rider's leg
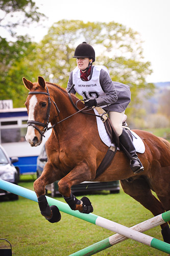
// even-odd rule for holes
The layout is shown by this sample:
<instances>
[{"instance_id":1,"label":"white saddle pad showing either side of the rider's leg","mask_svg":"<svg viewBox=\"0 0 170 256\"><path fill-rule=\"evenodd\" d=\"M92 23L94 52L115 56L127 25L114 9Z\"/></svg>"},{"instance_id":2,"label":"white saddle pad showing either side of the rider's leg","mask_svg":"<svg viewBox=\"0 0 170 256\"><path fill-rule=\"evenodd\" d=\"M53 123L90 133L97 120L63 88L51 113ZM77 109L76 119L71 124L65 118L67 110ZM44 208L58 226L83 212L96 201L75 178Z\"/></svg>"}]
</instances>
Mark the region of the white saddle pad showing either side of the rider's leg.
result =
<instances>
[{"instance_id":1,"label":"white saddle pad showing either side of the rider's leg","mask_svg":"<svg viewBox=\"0 0 170 256\"><path fill-rule=\"evenodd\" d=\"M95 115L99 115L98 111L96 111L95 109L93 109L93 110L94 110ZM110 138L109 138L109 136L106 132L105 125L104 125L103 121L101 120L101 118L96 116L96 122L98 124L98 132L99 132L101 140L108 147L111 146L111 145L114 146L114 144L111 143L111 140L110 140ZM133 137L133 145L136 149L136 152L144 153L145 146L144 146L144 143L141 140L141 138L136 133L134 133L133 131L131 131L131 134L132 134L132 137ZM119 148L117 148L117 150L119 150Z\"/></svg>"}]
</instances>

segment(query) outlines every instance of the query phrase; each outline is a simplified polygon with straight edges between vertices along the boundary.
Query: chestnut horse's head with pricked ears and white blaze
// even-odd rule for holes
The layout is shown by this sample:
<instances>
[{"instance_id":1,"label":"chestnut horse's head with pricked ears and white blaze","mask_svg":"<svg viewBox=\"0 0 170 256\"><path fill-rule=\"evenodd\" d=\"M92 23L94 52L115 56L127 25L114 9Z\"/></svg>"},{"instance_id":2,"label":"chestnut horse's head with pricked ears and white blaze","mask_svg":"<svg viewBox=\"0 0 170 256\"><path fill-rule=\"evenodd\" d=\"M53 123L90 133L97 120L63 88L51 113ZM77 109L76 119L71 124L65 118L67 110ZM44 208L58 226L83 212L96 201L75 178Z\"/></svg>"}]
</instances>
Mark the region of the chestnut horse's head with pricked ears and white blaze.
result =
<instances>
[{"instance_id":1,"label":"chestnut horse's head with pricked ears and white blaze","mask_svg":"<svg viewBox=\"0 0 170 256\"><path fill-rule=\"evenodd\" d=\"M50 118L50 94L43 77L38 77L37 83L22 78L23 84L30 91L25 102L28 110L28 129L26 140L31 146L38 146L42 142L44 129L46 130Z\"/></svg>"}]
</instances>

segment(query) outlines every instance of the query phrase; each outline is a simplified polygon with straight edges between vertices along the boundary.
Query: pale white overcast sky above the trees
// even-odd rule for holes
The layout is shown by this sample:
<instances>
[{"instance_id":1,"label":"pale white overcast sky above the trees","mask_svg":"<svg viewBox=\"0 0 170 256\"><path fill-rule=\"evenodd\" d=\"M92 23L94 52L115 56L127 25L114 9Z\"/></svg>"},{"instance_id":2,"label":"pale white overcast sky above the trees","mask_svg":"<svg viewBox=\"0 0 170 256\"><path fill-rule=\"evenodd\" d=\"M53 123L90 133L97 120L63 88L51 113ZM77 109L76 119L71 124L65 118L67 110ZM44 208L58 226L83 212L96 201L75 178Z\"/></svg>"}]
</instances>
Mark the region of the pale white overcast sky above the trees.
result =
<instances>
[{"instance_id":1,"label":"pale white overcast sky above the trees","mask_svg":"<svg viewBox=\"0 0 170 256\"><path fill-rule=\"evenodd\" d=\"M18 29L40 41L53 23L61 19L84 22L118 22L141 35L145 61L150 61L153 74L148 82L170 81L170 0L34 0L48 20L44 28L31 26Z\"/></svg>"}]
</instances>

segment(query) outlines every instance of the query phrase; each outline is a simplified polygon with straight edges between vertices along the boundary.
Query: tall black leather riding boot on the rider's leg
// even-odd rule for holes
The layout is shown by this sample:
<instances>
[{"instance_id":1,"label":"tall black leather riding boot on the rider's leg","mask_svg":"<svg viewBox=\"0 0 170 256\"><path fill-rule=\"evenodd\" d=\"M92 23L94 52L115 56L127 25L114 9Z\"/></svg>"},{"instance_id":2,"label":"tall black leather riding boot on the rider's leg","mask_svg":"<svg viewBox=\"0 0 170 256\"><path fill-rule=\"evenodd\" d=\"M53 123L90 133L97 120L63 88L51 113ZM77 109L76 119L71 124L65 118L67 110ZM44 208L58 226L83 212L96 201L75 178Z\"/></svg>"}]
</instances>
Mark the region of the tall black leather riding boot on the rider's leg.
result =
<instances>
[{"instance_id":1,"label":"tall black leather riding boot on the rider's leg","mask_svg":"<svg viewBox=\"0 0 170 256\"><path fill-rule=\"evenodd\" d=\"M130 166L134 174L142 172L144 170L143 165L138 159L132 139L125 129L123 129L123 133L119 136L119 141L123 145L124 152L130 159Z\"/></svg>"}]
</instances>

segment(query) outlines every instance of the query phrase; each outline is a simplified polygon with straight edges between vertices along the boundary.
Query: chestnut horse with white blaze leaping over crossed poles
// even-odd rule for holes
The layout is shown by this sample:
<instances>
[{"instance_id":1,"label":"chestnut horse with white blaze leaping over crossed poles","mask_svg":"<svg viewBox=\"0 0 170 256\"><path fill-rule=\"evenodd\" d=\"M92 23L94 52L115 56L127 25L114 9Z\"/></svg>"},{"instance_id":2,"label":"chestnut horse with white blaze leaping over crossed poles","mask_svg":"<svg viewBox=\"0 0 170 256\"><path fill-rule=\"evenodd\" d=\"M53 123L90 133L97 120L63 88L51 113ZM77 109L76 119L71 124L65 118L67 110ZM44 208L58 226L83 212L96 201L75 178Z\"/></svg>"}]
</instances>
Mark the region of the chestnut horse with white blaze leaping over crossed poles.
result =
<instances>
[{"instance_id":1,"label":"chestnut horse with white blaze leaping over crossed poles","mask_svg":"<svg viewBox=\"0 0 170 256\"><path fill-rule=\"evenodd\" d=\"M71 193L71 186L83 181L120 180L128 195L149 209L154 216L170 210L170 143L151 133L134 130L143 140L145 152L138 154L144 172L134 174L129 159L123 151L117 151L112 163L103 174L95 178L96 169L103 160L108 147L100 139L96 117L77 111L70 102L68 93L60 86L23 78L25 87L30 91L26 100L28 109L28 130L26 140L31 146L38 146L44 132L52 129L51 137L45 148L47 162L41 176L34 182L41 214L50 222L57 222L61 215L56 206L49 206L45 198L45 185L56 180L59 192L71 209L88 214L93 211L87 197L78 200ZM71 95L72 101L78 98ZM85 109L78 101L79 109ZM88 113L94 114L93 110ZM51 127L48 127L51 123ZM128 179L130 178L130 179ZM152 194L155 191L158 199ZM161 225L165 242L170 243L170 229L167 223Z\"/></svg>"}]
</instances>

